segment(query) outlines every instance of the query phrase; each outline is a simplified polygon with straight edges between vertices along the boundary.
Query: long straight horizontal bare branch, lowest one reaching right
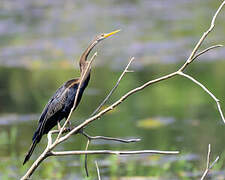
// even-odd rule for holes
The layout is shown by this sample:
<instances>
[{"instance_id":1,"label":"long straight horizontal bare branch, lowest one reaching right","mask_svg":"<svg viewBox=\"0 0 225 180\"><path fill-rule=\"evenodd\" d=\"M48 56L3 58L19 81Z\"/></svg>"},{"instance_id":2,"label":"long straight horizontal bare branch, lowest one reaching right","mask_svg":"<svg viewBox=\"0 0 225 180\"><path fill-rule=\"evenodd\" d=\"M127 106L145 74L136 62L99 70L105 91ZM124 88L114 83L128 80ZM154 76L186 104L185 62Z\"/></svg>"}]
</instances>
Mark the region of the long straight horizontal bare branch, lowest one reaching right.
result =
<instances>
[{"instance_id":1,"label":"long straight horizontal bare branch, lowest one reaching right","mask_svg":"<svg viewBox=\"0 0 225 180\"><path fill-rule=\"evenodd\" d=\"M51 151L50 156L65 155L82 155L82 154L114 154L114 155L130 155L130 154L179 154L179 151L158 151L158 150L140 150L140 151L111 151L111 150L92 150L92 151Z\"/></svg>"}]
</instances>

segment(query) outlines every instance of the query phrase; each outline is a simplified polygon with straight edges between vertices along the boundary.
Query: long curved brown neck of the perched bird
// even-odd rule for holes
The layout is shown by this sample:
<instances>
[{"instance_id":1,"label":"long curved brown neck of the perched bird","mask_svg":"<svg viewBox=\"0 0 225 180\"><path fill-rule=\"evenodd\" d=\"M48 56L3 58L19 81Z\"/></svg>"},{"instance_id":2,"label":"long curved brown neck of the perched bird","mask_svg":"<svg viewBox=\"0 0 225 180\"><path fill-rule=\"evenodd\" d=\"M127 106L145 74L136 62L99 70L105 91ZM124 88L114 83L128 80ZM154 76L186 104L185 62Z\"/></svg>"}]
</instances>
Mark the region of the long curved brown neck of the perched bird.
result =
<instances>
[{"instance_id":1,"label":"long curved brown neck of the perched bird","mask_svg":"<svg viewBox=\"0 0 225 180\"><path fill-rule=\"evenodd\" d=\"M89 53L91 52L91 50L95 47L95 45L98 43L98 41L95 39L89 46L88 46L88 48L83 52L83 54L81 55L81 58L80 58L80 74L81 74L81 76L83 75L83 73L84 73L84 71L85 71L85 69L86 69L86 67L87 67L87 58L88 58L88 55L89 55ZM91 69L89 69L88 71L87 71L87 75L89 75L89 73L90 73L90 70Z\"/></svg>"}]
</instances>

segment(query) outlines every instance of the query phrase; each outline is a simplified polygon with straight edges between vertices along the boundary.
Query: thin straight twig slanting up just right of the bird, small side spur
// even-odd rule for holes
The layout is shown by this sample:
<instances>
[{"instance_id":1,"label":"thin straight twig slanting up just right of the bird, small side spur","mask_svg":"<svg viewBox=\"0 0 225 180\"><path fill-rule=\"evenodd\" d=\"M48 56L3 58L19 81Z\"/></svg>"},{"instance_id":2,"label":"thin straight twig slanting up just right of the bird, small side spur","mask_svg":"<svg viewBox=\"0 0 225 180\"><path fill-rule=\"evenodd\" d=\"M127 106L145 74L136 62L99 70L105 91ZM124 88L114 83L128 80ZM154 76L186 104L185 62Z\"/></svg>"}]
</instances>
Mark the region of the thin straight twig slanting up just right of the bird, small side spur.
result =
<instances>
[{"instance_id":1,"label":"thin straight twig slanting up just right of the bird, small side spur","mask_svg":"<svg viewBox=\"0 0 225 180\"><path fill-rule=\"evenodd\" d=\"M129 61L129 63L127 64L126 68L124 69L124 71L122 72L122 74L120 75L119 79L116 82L116 85L112 88L112 90L109 92L109 94L106 96L106 98L102 101L102 103L96 108L96 110L90 115L94 116L99 109L101 109L101 107L108 101L108 99L110 98L110 96L113 94L113 92L116 90L116 88L118 87L120 81L122 80L123 76L125 75L125 73L130 72L128 71L128 68L130 66L130 64L132 63L132 61L134 60L134 57L132 57Z\"/></svg>"}]
</instances>

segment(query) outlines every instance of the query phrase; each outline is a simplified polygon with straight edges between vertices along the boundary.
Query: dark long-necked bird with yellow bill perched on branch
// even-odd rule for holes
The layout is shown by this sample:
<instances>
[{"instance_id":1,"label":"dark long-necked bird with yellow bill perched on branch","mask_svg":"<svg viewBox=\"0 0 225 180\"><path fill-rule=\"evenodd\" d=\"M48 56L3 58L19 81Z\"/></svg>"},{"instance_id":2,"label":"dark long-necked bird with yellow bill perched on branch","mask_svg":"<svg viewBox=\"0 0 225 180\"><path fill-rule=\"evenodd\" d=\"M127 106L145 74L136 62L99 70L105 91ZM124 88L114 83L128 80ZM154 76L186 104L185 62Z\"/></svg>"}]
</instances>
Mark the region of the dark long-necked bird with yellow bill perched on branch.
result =
<instances>
[{"instance_id":1,"label":"dark long-necked bird with yellow bill perched on branch","mask_svg":"<svg viewBox=\"0 0 225 180\"><path fill-rule=\"evenodd\" d=\"M94 38L94 40L90 43L87 49L81 55L79 66L80 66L80 77L71 79L65 82L60 88L58 88L55 94L50 98L48 103L45 105L41 116L38 121L38 127L34 132L32 138L32 144L30 146L29 151L27 152L23 165L30 159L36 145L40 142L42 136L47 134L56 124L62 119L67 119L71 109L74 106L74 101L76 97L76 93L78 91L79 83L81 82L79 94L77 95L76 104L73 110L76 109L78 104L81 101L81 97L85 88L87 87L89 80L90 80L90 72L91 68L88 67L88 55L91 50L103 39L119 32L120 30L116 30L110 33L103 33ZM82 75L84 74L84 77ZM82 79L81 79L82 78Z\"/></svg>"}]
</instances>

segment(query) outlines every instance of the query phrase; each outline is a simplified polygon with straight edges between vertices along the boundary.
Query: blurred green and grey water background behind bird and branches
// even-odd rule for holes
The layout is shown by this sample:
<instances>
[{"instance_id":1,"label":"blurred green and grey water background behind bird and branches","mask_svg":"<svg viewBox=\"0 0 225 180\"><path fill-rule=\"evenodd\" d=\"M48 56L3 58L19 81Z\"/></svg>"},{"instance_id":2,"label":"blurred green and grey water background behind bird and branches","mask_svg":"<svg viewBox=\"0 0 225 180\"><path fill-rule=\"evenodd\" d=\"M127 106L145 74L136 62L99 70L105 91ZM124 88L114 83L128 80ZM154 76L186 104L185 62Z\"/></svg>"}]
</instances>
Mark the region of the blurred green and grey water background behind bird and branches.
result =
<instances>
[{"instance_id":1,"label":"blurred green and grey water background behind bird and branches","mask_svg":"<svg viewBox=\"0 0 225 180\"><path fill-rule=\"evenodd\" d=\"M22 166L39 115L48 99L68 79L79 76L78 61L99 33L122 31L101 42L91 81L74 125L95 110L134 56L108 105L144 82L175 71L208 28L220 0L1 0L0 1L0 179L18 179L40 155L37 146ZM225 44L225 9L202 48ZM224 48L203 55L186 72L206 85L225 111ZM91 177L98 161L103 179L197 179L203 173L207 146L220 155L210 177L224 179L225 144L215 102L182 77L166 80L129 97L87 128L91 135L138 137L120 144L96 141L90 149L179 150L178 156L89 156ZM60 150L84 149L83 137L70 138ZM51 157L33 179L84 179L83 157Z\"/></svg>"}]
</instances>

